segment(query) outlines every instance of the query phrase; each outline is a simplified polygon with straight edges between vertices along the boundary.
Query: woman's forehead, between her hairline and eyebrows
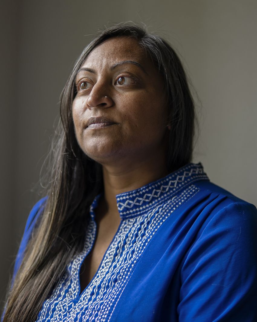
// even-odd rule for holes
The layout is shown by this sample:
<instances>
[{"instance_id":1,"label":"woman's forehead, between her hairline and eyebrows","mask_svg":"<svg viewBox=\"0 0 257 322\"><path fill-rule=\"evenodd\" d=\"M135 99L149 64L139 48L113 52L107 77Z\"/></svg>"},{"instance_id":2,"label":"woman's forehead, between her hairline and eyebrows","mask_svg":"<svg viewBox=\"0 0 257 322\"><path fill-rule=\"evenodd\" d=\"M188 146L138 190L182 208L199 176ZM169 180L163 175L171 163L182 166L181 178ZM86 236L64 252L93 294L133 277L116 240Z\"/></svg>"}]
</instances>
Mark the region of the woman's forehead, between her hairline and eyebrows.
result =
<instances>
[{"instance_id":1,"label":"woman's forehead, between her hairline and eyebrows","mask_svg":"<svg viewBox=\"0 0 257 322\"><path fill-rule=\"evenodd\" d=\"M114 37L94 48L82 67L90 65L90 67L100 68L125 60L133 60L142 65L148 65L148 67L153 66L151 59L146 56L146 51L140 47L136 38Z\"/></svg>"}]
</instances>

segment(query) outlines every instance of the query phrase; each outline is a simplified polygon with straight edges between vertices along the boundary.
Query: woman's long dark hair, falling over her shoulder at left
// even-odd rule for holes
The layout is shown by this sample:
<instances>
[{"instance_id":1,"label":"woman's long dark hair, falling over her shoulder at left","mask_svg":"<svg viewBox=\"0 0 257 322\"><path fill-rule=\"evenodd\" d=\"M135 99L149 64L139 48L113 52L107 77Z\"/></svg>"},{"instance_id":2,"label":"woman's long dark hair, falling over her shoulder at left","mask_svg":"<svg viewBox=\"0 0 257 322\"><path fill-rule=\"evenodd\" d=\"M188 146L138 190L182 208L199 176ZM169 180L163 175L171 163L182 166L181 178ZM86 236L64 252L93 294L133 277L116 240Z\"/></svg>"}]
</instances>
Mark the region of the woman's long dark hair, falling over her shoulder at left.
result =
<instances>
[{"instance_id":1,"label":"woman's long dark hair, falling over her shoulder at left","mask_svg":"<svg viewBox=\"0 0 257 322\"><path fill-rule=\"evenodd\" d=\"M103 185L101 166L84 154L75 137L71 109L76 95L74 80L89 53L117 36L135 37L163 75L171 126L167 168L177 169L191 161L194 103L177 54L165 40L134 23L116 24L100 32L76 61L61 94L61 117L44 191L48 198L7 294L4 322L35 321L67 264L83 249L89 206Z\"/></svg>"}]
</instances>

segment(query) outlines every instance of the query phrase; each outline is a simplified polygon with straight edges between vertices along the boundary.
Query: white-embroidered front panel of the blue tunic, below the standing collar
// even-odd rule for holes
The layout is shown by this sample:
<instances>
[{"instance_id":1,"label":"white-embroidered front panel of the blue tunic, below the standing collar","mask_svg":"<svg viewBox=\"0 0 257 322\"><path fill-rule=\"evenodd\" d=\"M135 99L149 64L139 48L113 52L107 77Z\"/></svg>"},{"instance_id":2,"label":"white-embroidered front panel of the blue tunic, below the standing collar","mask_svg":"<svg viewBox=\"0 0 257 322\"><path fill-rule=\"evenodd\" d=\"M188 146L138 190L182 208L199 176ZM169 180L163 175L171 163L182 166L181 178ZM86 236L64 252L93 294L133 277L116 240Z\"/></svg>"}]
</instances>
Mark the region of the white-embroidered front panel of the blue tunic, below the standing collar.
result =
<instances>
[{"instance_id":1,"label":"white-embroidered front panel of the blue tunic, below the standing collar","mask_svg":"<svg viewBox=\"0 0 257 322\"><path fill-rule=\"evenodd\" d=\"M58 291L44 303L38 321L105 321L108 313L109 321L148 242L173 211L198 190L191 185L182 194L174 196L171 201L158 206L147 215L124 220L96 276L78 298L78 302L74 303L71 300L79 292L79 267L91 248L90 243L86 243L84 251L72 263L71 277L66 279L66 283L60 283Z\"/></svg>"}]
</instances>

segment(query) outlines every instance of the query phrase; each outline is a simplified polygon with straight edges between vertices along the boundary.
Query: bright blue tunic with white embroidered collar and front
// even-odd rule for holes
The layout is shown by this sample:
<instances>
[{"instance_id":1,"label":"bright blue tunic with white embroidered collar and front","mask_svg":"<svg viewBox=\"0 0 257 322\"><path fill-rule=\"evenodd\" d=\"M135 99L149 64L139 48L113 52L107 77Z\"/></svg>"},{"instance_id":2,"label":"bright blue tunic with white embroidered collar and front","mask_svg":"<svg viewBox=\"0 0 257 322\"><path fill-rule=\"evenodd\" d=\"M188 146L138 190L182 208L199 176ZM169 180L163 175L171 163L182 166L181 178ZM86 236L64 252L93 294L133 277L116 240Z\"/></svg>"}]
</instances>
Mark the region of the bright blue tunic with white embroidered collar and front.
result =
<instances>
[{"instance_id":1,"label":"bright blue tunic with white embroidered collar and front","mask_svg":"<svg viewBox=\"0 0 257 322\"><path fill-rule=\"evenodd\" d=\"M120 226L81 293L79 270L96 238L99 197L90 208L84 249L37 321L257 321L252 204L210 183L201 164L192 163L117 195ZM14 274L44 201L29 215Z\"/></svg>"}]
</instances>

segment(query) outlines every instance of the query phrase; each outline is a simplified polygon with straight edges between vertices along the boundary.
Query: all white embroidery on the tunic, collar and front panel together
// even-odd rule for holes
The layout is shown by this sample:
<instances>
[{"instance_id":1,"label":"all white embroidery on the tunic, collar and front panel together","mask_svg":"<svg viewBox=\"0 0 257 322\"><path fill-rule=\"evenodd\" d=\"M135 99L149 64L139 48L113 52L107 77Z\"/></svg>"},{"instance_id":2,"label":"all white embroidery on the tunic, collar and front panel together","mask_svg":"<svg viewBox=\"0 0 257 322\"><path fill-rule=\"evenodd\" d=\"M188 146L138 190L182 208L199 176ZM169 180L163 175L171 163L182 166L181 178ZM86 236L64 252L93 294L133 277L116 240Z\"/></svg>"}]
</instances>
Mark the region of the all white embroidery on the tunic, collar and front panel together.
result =
<instances>
[{"instance_id":1,"label":"all white embroidery on the tunic, collar and front panel together","mask_svg":"<svg viewBox=\"0 0 257 322\"><path fill-rule=\"evenodd\" d=\"M94 278L79 296L79 269L93 246L96 234L91 206L91 219L84 249L71 261L59 285L51 297L43 303L38 322L110 321L119 298L152 237L174 210L199 191L195 185L191 184L179 192L181 188L178 183L186 185L188 182L199 180L199 175L204 179L207 178L199 165L191 164L182 168L181 171L183 174L180 175L178 172L175 180L171 180L174 175L167 176L165 180L160 180L157 184L138 189L140 190L138 194L133 191L117 196L117 202L118 200L124 201L121 207L133 207L131 209L133 211L136 208L137 213L133 217L131 213L126 217L127 211L123 213L120 211L121 215L124 214L120 227ZM173 195L174 191L176 191L175 195Z\"/></svg>"}]
</instances>

